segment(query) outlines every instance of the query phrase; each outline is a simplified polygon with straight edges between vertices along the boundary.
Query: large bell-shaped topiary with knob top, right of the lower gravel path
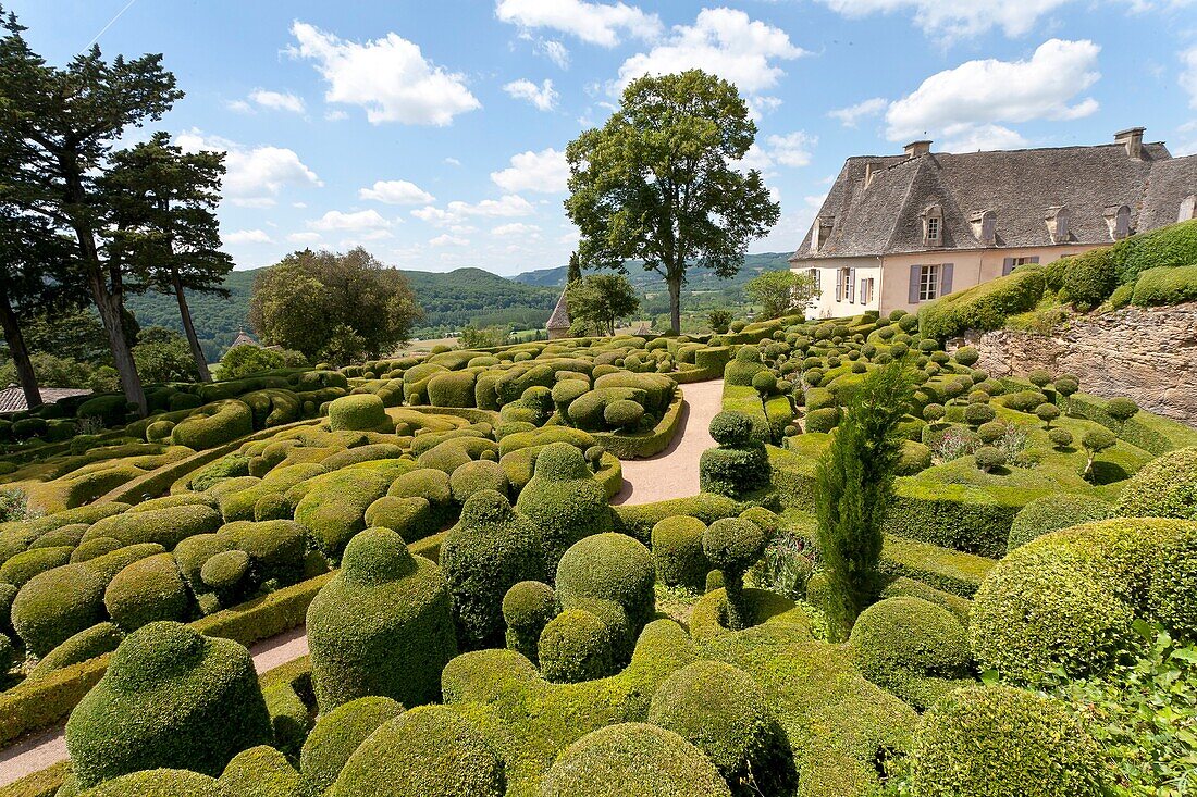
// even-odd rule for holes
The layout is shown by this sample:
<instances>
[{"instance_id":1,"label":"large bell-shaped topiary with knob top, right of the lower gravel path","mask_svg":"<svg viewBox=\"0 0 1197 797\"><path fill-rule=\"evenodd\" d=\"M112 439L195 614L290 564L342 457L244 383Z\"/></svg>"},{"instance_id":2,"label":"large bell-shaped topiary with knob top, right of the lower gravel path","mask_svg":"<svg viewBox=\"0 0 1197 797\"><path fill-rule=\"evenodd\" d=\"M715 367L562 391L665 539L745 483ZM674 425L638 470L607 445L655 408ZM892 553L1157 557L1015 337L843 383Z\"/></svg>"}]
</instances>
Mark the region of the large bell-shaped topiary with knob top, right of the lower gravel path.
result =
<instances>
[{"instance_id":1,"label":"large bell-shaped topiary with knob top, right of the lower gravel path","mask_svg":"<svg viewBox=\"0 0 1197 797\"><path fill-rule=\"evenodd\" d=\"M457 655L449 585L394 531L363 531L308 608L308 643L321 711L370 694L431 702Z\"/></svg>"}]
</instances>

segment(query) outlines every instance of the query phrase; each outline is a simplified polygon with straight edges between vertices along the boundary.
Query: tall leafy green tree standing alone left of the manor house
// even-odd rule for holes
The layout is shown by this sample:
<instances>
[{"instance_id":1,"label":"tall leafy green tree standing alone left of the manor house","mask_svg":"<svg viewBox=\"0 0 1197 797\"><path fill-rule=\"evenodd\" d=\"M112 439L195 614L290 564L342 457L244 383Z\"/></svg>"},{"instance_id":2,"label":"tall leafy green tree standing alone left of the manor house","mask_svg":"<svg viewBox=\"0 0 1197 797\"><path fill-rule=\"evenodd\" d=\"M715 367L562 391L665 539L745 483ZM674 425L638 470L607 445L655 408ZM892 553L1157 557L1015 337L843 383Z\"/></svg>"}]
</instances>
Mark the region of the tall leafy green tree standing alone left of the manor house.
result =
<instances>
[{"instance_id":1,"label":"tall leafy green tree standing alone left of the manor house","mask_svg":"<svg viewBox=\"0 0 1197 797\"><path fill-rule=\"evenodd\" d=\"M701 69L633 80L607 123L566 148L582 264L626 272L625 261L643 261L664 278L680 333L687 267L734 276L780 215L760 171L739 165L755 138L727 80Z\"/></svg>"}]
</instances>

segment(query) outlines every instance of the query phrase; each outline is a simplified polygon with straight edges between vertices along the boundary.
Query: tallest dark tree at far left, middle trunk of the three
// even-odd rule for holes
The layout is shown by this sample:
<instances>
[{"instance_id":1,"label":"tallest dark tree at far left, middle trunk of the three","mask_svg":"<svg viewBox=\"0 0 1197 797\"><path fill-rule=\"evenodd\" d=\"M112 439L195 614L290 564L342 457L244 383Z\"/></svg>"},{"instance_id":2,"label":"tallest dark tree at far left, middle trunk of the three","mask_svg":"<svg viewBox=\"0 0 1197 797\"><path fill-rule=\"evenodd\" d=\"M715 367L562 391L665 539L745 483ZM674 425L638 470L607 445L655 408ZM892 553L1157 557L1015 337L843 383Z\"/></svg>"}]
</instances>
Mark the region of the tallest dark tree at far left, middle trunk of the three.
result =
<instances>
[{"instance_id":1,"label":"tallest dark tree at far left, middle trunk of the three","mask_svg":"<svg viewBox=\"0 0 1197 797\"><path fill-rule=\"evenodd\" d=\"M145 391L124 330L126 274L108 257L102 232L110 197L101 178L114 144L133 127L162 118L182 92L160 55L105 61L99 48L57 68L34 53L24 28L0 8L0 184L5 201L68 231L75 279L86 286L104 322L113 360L128 401L146 414Z\"/></svg>"}]
</instances>

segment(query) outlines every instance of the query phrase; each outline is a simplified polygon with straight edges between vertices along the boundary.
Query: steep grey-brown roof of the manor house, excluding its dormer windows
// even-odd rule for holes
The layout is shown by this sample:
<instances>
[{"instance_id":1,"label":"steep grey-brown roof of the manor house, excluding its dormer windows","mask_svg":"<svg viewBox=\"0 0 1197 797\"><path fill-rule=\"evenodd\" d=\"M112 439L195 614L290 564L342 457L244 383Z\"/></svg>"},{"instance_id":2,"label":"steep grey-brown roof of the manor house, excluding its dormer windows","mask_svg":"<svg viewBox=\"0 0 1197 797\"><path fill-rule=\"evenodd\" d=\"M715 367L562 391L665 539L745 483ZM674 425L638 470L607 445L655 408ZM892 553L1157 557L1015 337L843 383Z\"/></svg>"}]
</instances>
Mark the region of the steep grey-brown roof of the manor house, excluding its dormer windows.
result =
<instances>
[{"instance_id":1,"label":"steep grey-brown roof of the manor house, excluding its dormer windows","mask_svg":"<svg viewBox=\"0 0 1197 797\"><path fill-rule=\"evenodd\" d=\"M1162 142L1143 144L1138 159L1123 144L853 157L819 211L819 218L834 218L830 238L812 251L816 219L790 260L923 251L922 213L935 203L943 214L937 249L983 248L971 224L983 211L995 213L991 245L1051 245L1044 217L1053 207L1068 208L1068 243L1111 243L1106 208L1126 205L1131 232L1141 232L1174 224L1181 200L1195 191L1197 156L1172 158Z\"/></svg>"}]
</instances>

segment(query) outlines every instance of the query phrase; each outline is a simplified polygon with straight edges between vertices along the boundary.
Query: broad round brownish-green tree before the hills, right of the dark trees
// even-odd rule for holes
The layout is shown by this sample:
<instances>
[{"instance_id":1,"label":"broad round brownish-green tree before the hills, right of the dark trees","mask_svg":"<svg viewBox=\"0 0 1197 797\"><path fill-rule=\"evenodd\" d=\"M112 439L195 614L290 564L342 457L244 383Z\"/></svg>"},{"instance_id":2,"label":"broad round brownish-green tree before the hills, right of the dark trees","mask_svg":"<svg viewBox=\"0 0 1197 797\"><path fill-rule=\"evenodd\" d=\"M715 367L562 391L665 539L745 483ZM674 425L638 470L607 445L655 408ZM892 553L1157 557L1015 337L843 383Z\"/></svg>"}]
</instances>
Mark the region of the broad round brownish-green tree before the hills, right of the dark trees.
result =
<instances>
[{"instance_id":1,"label":"broad round brownish-green tree before the hills, right of the dark trees","mask_svg":"<svg viewBox=\"0 0 1197 797\"><path fill-rule=\"evenodd\" d=\"M421 315L402 272L358 247L345 254L305 249L263 269L249 321L265 342L344 364L389 354Z\"/></svg>"}]
</instances>

